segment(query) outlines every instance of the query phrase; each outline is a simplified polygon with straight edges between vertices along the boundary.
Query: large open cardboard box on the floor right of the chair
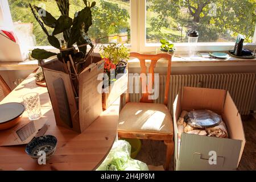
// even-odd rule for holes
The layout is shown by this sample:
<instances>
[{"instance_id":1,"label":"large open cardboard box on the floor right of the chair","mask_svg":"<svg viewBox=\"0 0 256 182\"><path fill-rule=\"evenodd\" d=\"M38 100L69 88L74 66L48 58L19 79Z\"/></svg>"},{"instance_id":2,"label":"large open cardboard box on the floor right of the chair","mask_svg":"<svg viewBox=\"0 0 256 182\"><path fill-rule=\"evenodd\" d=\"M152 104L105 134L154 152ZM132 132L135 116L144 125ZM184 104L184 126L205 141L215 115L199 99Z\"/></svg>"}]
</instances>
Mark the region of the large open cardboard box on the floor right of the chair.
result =
<instances>
[{"instance_id":1,"label":"large open cardboard box on the floor right of the chair","mask_svg":"<svg viewBox=\"0 0 256 182\"><path fill-rule=\"evenodd\" d=\"M220 114L229 138L181 133L179 143L177 119L181 111L192 109L209 109ZM174 101L174 134L176 170L236 170L245 147L240 113L225 90L189 87L180 90ZM211 158L210 151L216 152L216 158ZM209 164L209 159L216 164Z\"/></svg>"}]
</instances>

